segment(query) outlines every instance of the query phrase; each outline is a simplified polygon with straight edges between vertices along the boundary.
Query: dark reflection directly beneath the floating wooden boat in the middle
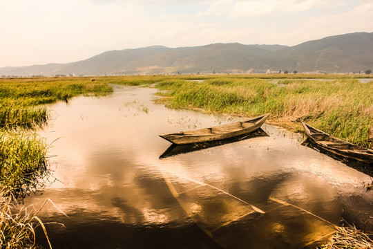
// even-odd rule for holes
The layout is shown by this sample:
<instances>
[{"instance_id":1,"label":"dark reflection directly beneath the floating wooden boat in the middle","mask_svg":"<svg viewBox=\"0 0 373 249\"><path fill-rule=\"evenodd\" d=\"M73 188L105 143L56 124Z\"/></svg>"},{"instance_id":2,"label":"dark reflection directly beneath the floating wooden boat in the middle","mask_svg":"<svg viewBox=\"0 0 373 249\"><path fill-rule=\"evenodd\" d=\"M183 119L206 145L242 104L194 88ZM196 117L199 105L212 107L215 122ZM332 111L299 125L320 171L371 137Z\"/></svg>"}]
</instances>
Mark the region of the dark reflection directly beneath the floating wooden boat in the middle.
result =
<instances>
[{"instance_id":1,"label":"dark reflection directly beneath the floating wooden boat in the middle","mask_svg":"<svg viewBox=\"0 0 373 249\"><path fill-rule=\"evenodd\" d=\"M199 142L195 144L188 144L188 145L175 145L172 144L170 147L166 149L166 151L163 152L163 154L160 156L160 158L166 158L169 156L176 156L178 154L186 154L193 151L199 151L201 149L208 149L211 147L216 147L220 145L227 145L232 142L238 142L240 140L245 140L249 138L256 138L256 137L262 137L262 136L268 136L268 134L263 131L262 129L257 129L254 132L251 132L249 134L244 134L241 136L236 136L233 138L227 138L224 140L217 140L217 141L210 141L210 142Z\"/></svg>"}]
</instances>

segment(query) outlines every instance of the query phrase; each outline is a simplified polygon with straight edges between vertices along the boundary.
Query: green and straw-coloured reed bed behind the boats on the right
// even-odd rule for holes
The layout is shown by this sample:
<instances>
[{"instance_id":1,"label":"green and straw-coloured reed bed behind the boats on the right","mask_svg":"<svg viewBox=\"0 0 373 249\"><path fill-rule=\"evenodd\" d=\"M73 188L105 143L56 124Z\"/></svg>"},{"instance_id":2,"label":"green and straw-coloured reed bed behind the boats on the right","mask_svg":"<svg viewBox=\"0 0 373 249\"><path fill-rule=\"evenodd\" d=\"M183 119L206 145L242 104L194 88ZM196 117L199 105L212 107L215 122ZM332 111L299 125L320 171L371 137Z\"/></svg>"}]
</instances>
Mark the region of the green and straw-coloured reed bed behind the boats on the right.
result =
<instances>
[{"instance_id":1,"label":"green and straw-coloured reed bed behind the boats on the right","mask_svg":"<svg viewBox=\"0 0 373 249\"><path fill-rule=\"evenodd\" d=\"M211 113L257 116L271 113L269 122L302 131L300 121L365 147L373 125L373 83L356 79L304 80L215 77L203 82L182 79L157 84L171 108L203 109Z\"/></svg>"}]
</instances>

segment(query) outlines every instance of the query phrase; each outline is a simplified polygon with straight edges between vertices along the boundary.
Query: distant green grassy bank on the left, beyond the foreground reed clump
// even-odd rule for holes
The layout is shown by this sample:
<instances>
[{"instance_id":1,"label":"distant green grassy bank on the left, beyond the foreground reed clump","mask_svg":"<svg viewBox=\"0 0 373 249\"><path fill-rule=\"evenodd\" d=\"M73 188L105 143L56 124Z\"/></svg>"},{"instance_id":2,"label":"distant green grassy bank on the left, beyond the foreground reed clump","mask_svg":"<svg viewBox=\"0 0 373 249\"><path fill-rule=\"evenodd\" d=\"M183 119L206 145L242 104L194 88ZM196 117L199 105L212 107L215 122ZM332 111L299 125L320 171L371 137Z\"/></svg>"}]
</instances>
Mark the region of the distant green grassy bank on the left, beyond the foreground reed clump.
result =
<instances>
[{"instance_id":1,"label":"distant green grassy bank on the left, beyond the foreground reed clump","mask_svg":"<svg viewBox=\"0 0 373 249\"><path fill-rule=\"evenodd\" d=\"M3 79L0 80L0 127L37 127L48 120L43 104L68 101L80 94L103 95L112 91L107 83L90 78Z\"/></svg>"}]
</instances>

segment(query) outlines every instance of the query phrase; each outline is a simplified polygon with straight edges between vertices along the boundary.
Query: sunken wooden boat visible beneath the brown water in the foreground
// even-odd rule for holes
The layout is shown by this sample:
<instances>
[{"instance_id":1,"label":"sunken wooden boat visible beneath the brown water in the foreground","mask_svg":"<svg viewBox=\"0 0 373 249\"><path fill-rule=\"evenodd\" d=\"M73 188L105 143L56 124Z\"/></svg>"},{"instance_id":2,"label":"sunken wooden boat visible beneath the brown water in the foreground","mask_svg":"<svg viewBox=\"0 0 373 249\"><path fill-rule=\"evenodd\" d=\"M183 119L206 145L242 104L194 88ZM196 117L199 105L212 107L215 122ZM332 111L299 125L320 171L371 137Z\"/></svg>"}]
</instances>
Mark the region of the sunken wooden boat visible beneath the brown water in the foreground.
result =
<instances>
[{"instance_id":1,"label":"sunken wooden boat visible beneath the brown water in the foreground","mask_svg":"<svg viewBox=\"0 0 373 249\"><path fill-rule=\"evenodd\" d=\"M316 248L336 232L336 225L276 198L276 192L260 193L259 199L244 195L245 201L180 172L162 170L162 175L182 210L221 248ZM255 182L250 187L259 187ZM277 185L259 182L260 188ZM253 197L260 208L248 202Z\"/></svg>"}]
</instances>

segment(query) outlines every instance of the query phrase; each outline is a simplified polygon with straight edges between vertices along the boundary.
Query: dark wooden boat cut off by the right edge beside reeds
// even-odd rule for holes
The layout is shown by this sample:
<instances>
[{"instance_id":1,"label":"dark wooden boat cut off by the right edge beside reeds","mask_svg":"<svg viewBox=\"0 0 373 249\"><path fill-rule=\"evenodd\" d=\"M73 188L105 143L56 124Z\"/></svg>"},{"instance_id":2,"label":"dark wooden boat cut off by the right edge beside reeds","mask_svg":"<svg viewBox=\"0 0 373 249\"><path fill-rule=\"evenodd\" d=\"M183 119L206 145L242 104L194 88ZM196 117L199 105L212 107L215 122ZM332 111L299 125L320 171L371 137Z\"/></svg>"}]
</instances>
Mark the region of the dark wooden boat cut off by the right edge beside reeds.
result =
<instances>
[{"instance_id":1,"label":"dark wooden boat cut off by the right edge beside reeds","mask_svg":"<svg viewBox=\"0 0 373 249\"><path fill-rule=\"evenodd\" d=\"M316 129L305 122L302 122L309 141L338 156L358 160L364 163L373 163L373 150L354 145L339 138L335 138L324 131Z\"/></svg>"}]
</instances>

